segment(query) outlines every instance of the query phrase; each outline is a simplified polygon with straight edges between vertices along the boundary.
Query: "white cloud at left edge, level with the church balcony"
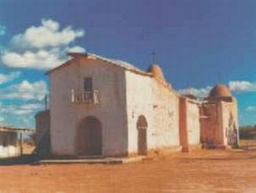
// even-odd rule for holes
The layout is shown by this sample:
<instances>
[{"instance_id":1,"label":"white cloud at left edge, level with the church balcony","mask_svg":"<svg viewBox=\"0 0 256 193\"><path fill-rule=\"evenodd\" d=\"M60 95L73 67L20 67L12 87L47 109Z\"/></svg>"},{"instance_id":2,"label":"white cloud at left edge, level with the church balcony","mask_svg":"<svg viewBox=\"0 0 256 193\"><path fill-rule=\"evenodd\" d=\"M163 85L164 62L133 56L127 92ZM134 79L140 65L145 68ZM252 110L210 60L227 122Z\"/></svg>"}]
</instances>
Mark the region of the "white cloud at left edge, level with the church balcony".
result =
<instances>
[{"instance_id":1,"label":"white cloud at left edge, level with the church balcony","mask_svg":"<svg viewBox=\"0 0 256 193\"><path fill-rule=\"evenodd\" d=\"M23 80L20 84L14 84L0 90L0 98L2 99L41 100L47 94L47 85L42 80L34 83Z\"/></svg>"}]
</instances>

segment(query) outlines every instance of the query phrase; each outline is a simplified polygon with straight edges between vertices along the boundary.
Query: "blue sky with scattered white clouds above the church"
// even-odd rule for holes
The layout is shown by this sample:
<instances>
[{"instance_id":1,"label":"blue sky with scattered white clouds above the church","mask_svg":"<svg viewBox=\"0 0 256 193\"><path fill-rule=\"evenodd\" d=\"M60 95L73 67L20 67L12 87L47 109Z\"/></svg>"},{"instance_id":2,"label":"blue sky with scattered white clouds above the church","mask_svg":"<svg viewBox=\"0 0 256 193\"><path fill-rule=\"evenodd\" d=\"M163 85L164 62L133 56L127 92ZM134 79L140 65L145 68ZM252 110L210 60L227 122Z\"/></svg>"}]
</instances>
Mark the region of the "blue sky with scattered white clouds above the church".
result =
<instances>
[{"instance_id":1,"label":"blue sky with scattered white clouds above the church","mask_svg":"<svg viewBox=\"0 0 256 193\"><path fill-rule=\"evenodd\" d=\"M255 9L254 0L0 0L0 123L34 127L45 70L85 49L143 70L154 51L173 88L195 95L221 74L240 124L256 124Z\"/></svg>"}]
</instances>

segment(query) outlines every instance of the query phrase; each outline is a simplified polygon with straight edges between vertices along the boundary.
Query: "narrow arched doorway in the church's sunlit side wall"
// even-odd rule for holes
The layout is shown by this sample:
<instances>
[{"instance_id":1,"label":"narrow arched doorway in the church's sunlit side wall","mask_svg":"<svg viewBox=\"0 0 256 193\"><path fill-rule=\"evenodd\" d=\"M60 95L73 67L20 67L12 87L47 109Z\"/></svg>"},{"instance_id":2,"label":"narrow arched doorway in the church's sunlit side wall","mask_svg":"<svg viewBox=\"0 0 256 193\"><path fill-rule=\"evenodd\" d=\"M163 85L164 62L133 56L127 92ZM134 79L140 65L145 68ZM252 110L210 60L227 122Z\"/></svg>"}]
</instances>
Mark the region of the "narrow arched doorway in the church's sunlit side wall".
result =
<instances>
[{"instance_id":1,"label":"narrow arched doorway in the church's sunlit side wall","mask_svg":"<svg viewBox=\"0 0 256 193\"><path fill-rule=\"evenodd\" d=\"M138 130L138 155L147 155L146 130L147 122L145 116L139 116L137 120Z\"/></svg>"}]
</instances>

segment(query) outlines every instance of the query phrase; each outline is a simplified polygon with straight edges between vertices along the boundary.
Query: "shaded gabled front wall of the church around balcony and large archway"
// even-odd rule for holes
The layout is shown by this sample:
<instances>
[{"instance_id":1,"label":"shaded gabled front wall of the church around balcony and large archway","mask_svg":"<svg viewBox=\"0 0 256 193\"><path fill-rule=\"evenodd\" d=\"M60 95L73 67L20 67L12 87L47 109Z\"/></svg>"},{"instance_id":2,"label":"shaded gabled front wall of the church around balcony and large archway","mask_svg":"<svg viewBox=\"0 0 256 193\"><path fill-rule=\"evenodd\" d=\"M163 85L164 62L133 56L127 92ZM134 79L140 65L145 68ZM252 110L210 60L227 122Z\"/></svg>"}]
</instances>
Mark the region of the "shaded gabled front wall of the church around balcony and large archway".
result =
<instances>
[{"instance_id":1,"label":"shaded gabled front wall of the church around balcony and large archway","mask_svg":"<svg viewBox=\"0 0 256 193\"><path fill-rule=\"evenodd\" d=\"M51 142L55 155L75 155L79 122L96 116L103 127L103 155L127 152L127 121L124 70L96 59L74 59L73 65L50 77ZM83 91L83 78L92 77L100 92L100 105L71 103L71 90Z\"/></svg>"}]
</instances>

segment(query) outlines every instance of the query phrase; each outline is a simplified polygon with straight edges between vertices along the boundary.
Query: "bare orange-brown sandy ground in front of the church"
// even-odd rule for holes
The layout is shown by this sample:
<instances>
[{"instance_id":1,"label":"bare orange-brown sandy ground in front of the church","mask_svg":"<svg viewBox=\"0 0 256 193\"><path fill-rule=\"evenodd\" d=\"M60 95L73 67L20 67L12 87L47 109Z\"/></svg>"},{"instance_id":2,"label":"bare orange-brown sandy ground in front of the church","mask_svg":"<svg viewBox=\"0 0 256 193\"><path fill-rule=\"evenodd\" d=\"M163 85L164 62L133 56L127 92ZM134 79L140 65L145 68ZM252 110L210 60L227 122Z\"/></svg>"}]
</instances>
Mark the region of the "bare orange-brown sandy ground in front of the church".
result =
<instances>
[{"instance_id":1,"label":"bare orange-brown sandy ground in front of the church","mask_svg":"<svg viewBox=\"0 0 256 193\"><path fill-rule=\"evenodd\" d=\"M0 192L256 192L256 152L201 150L123 165L0 166Z\"/></svg>"}]
</instances>

